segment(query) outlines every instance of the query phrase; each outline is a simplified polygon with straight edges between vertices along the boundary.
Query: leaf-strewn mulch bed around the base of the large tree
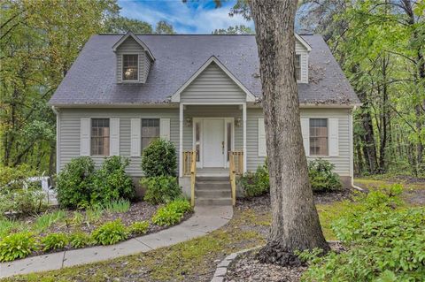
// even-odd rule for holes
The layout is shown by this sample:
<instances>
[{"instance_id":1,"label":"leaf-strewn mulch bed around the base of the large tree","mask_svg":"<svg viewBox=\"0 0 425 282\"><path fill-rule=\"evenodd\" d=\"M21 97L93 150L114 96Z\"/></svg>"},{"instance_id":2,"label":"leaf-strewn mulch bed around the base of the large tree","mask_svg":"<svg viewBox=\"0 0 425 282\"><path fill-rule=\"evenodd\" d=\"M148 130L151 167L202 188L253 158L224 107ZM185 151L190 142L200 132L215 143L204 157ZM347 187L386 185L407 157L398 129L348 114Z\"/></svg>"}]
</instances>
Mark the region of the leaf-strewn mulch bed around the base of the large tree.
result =
<instances>
[{"instance_id":1,"label":"leaf-strewn mulch bed around the base of the large tree","mask_svg":"<svg viewBox=\"0 0 425 282\"><path fill-rule=\"evenodd\" d=\"M344 248L336 242L330 248L341 251ZM276 264L259 263L256 258L259 250L253 250L236 257L228 267L224 279L227 282L298 282L306 271L306 266L283 267Z\"/></svg>"}]
</instances>

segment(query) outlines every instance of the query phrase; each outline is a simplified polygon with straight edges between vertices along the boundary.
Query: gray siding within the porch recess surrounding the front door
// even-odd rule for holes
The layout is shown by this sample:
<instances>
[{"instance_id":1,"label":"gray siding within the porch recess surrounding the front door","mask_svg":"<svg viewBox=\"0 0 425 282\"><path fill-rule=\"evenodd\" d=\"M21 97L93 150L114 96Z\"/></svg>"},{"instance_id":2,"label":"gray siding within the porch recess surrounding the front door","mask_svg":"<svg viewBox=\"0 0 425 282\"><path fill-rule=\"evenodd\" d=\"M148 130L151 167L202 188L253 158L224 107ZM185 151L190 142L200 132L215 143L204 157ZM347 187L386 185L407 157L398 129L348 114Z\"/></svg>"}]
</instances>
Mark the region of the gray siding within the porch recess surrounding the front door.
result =
<instances>
[{"instance_id":1,"label":"gray siding within the porch recess surrounding the front door","mask_svg":"<svg viewBox=\"0 0 425 282\"><path fill-rule=\"evenodd\" d=\"M242 110L234 105L201 106L189 105L183 111L186 118L242 118ZM243 149L243 126L235 126L235 149ZM193 126L183 125L183 150L193 148Z\"/></svg>"}]
</instances>

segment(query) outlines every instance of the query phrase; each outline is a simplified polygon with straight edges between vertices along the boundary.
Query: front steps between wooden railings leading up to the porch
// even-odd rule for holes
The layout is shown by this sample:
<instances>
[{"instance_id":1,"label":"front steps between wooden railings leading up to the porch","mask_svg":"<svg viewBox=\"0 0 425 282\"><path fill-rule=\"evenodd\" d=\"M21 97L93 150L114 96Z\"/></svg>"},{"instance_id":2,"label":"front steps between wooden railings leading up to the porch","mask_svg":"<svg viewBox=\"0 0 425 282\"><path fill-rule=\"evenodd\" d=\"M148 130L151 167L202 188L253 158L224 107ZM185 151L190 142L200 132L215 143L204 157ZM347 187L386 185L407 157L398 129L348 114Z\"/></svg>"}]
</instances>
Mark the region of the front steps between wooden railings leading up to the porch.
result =
<instances>
[{"instance_id":1,"label":"front steps between wooden railings leading up to the porch","mask_svg":"<svg viewBox=\"0 0 425 282\"><path fill-rule=\"evenodd\" d=\"M195 205L232 205L232 192L228 177L197 177L195 182Z\"/></svg>"}]
</instances>

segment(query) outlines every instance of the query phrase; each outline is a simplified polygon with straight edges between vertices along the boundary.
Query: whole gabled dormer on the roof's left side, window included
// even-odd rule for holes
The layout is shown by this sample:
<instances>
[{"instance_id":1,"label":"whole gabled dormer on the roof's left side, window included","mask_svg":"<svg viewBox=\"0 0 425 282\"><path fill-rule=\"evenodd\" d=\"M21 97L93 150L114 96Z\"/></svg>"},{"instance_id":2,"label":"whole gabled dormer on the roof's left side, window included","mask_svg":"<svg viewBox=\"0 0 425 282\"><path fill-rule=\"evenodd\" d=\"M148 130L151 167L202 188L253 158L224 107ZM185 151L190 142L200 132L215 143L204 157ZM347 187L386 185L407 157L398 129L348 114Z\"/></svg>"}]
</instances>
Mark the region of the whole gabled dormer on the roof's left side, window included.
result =
<instances>
[{"instance_id":1,"label":"whole gabled dormer on the roof's left side, window included","mask_svg":"<svg viewBox=\"0 0 425 282\"><path fill-rule=\"evenodd\" d=\"M117 83L145 83L155 61L151 50L135 34L128 32L112 50L117 57Z\"/></svg>"}]
</instances>

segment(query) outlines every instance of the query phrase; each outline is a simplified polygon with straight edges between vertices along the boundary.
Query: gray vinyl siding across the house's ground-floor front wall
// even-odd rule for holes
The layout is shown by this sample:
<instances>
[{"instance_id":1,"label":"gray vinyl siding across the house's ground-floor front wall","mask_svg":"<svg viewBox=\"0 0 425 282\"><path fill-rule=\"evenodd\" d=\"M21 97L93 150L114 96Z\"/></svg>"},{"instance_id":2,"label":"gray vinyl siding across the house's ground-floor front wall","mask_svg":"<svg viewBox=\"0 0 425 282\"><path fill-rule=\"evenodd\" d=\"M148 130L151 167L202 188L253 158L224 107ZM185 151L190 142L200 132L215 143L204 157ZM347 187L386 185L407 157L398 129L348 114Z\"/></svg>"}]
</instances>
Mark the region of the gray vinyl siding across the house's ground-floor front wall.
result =
<instances>
[{"instance_id":1,"label":"gray vinyl siding across the house's ground-floor front wall","mask_svg":"<svg viewBox=\"0 0 425 282\"><path fill-rule=\"evenodd\" d=\"M242 118L242 109L237 105L188 105L183 111L186 118ZM323 157L336 165L336 172L350 175L350 119L349 110L344 109L301 109L302 118L338 118L339 155ZM58 159L63 168L73 157L80 156L81 118L120 118L120 156L130 157L131 118L170 118L170 140L179 150L179 110L178 109L60 109L58 118ZM265 157L259 156L259 118L262 109L247 109L247 170L255 171L264 164ZM192 149L193 127L183 122L183 149ZM235 126L235 149L243 149L243 126ZM179 155L178 155L179 156ZM97 166L103 157L93 157ZM308 157L308 159L313 159ZM128 173L141 176L141 158L130 157Z\"/></svg>"}]
</instances>

